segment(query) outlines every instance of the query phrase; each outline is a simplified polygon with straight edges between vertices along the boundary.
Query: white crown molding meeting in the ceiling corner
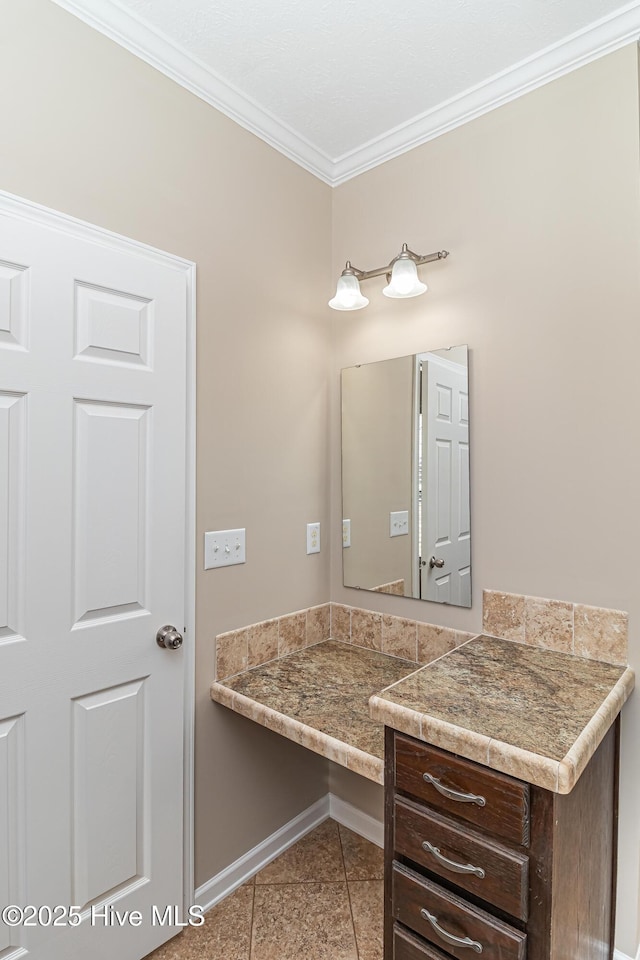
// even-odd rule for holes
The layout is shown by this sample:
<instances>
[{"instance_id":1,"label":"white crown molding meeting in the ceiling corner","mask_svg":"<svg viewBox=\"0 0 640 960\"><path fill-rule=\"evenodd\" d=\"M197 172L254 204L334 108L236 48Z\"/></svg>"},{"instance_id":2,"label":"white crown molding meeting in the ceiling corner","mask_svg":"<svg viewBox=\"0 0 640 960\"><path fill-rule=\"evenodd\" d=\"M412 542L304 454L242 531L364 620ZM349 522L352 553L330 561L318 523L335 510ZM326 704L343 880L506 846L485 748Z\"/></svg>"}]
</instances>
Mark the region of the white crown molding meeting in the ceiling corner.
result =
<instances>
[{"instance_id":1,"label":"white crown molding meeting in the ceiling corner","mask_svg":"<svg viewBox=\"0 0 640 960\"><path fill-rule=\"evenodd\" d=\"M331 158L117 0L54 0L54 3L330 186L338 186L640 38L640 0L635 0L361 147Z\"/></svg>"}]
</instances>

